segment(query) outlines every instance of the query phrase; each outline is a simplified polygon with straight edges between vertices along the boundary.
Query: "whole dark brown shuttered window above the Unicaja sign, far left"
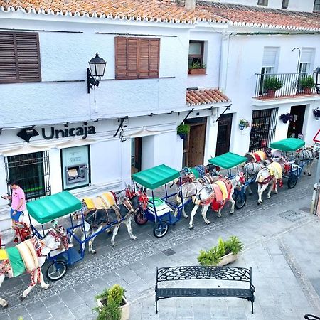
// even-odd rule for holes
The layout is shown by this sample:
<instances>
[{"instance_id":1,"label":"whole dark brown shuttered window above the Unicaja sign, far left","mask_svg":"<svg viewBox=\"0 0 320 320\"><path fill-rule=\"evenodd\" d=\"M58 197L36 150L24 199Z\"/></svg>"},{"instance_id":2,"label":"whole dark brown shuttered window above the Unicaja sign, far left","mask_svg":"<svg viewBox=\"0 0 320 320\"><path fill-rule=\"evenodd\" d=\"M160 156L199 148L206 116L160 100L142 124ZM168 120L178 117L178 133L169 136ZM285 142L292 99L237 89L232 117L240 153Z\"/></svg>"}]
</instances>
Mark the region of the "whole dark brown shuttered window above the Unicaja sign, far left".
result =
<instances>
[{"instance_id":1,"label":"whole dark brown shuttered window above the Unicaja sign, far left","mask_svg":"<svg viewBox=\"0 0 320 320\"><path fill-rule=\"evenodd\" d=\"M41 81L38 33L0 32L0 83Z\"/></svg>"}]
</instances>

